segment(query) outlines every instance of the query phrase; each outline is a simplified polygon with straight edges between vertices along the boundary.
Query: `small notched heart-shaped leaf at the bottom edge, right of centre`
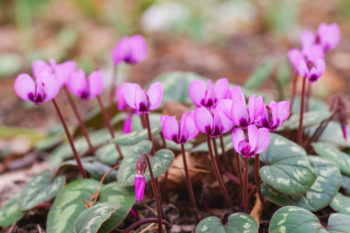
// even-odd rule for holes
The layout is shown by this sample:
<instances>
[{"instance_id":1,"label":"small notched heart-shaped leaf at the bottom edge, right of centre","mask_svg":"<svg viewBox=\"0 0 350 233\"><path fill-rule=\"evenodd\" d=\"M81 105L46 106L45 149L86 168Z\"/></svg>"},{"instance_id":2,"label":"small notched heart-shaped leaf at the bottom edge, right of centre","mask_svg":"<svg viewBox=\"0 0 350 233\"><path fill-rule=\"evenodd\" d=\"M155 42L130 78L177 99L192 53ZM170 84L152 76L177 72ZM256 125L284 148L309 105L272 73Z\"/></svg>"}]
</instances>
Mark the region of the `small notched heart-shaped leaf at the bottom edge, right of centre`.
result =
<instances>
[{"instance_id":1,"label":"small notched heart-shaped leaf at the bottom edge, right of centre","mask_svg":"<svg viewBox=\"0 0 350 233\"><path fill-rule=\"evenodd\" d=\"M258 224L248 214L231 214L225 225L222 225L217 217L203 219L196 228L196 233L258 233Z\"/></svg>"}]
</instances>

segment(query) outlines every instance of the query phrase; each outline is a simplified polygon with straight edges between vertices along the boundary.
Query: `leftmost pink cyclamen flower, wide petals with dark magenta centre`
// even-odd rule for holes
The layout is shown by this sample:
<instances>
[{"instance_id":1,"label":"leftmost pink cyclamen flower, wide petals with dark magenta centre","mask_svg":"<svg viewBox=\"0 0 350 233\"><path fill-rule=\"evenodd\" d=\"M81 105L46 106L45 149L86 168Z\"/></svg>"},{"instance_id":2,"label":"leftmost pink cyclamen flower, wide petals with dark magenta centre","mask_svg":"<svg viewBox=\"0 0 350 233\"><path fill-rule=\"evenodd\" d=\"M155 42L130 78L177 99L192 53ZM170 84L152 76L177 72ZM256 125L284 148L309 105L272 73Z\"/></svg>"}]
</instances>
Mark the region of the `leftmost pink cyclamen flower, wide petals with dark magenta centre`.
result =
<instances>
[{"instance_id":1,"label":"leftmost pink cyclamen flower, wide petals with dark magenta centre","mask_svg":"<svg viewBox=\"0 0 350 233\"><path fill-rule=\"evenodd\" d=\"M42 72L34 81L28 74L20 74L15 81L17 95L36 105L54 99L60 90L59 83L51 73Z\"/></svg>"}]
</instances>

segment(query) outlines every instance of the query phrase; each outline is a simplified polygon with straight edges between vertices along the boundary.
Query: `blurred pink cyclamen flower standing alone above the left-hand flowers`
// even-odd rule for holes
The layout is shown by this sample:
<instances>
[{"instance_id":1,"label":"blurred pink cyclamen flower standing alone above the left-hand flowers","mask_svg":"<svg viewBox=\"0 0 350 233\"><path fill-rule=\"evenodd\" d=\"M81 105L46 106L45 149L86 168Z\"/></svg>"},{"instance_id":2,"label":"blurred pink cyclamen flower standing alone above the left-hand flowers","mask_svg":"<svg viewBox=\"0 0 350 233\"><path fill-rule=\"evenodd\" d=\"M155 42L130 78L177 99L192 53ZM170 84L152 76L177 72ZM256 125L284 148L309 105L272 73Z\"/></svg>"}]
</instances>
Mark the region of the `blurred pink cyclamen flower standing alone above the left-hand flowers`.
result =
<instances>
[{"instance_id":1,"label":"blurred pink cyclamen flower standing alone above the left-hand flowers","mask_svg":"<svg viewBox=\"0 0 350 233\"><path fill-rule=\"evenodd\" d=\"M114 65L121 62L136 64L145 59L147 55L147 44L141 35L123 37L112 50Z\"/></svg>"}]
</instances>

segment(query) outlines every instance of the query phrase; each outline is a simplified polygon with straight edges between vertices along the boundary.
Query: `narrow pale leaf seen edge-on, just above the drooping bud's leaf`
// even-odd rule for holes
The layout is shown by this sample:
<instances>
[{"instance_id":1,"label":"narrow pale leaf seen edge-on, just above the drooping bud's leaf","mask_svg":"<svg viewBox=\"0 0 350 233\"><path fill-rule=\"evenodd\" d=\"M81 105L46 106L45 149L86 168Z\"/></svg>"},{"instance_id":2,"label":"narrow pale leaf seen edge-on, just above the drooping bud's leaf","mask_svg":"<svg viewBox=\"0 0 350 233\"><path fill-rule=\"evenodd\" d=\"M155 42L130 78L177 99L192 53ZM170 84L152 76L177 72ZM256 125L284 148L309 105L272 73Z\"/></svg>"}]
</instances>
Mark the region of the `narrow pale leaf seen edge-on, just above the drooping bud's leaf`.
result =
<instances>
[{"instance_id":1,"label":"narrow pale leaf seen edge-on, just above the drooping bud's leaf","mask_svg":"<svg viewBox=\"0 0 350 233\"><path fill-rule=\"evenodd\" d=\"M152 135L160 133L161 127L155 127L151 129ZM129 134L123 134L116 136L112 141L118 145L134 145L142 140L148 139L147 129L141 131L134 131Z\"/></svg>"}]
</instances>

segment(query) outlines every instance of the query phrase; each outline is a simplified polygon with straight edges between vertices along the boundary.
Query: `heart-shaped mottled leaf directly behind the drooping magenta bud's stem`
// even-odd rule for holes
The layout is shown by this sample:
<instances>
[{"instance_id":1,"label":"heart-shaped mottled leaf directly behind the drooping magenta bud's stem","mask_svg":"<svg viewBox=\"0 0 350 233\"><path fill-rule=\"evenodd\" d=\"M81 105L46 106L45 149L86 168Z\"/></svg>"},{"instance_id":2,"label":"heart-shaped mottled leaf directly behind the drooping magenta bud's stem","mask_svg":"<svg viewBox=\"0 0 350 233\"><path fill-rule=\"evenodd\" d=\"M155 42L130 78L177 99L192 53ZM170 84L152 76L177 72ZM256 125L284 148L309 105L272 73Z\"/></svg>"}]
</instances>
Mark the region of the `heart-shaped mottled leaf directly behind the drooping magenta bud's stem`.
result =
<instances>
[{"instance_id":1,"label":"heart-shaped mottled leaf directly behind the drooping magenta bud's stem","mask_svg":"<svg viewBox=\"0 0 350 233\"><path fill-rule=\"evenodd\" d=\"M149 153L151 144L148 141L143 141L135 145L134 150L130 150L125 155L120 168L118 170L118 182L122 186L131 186L135 183L136 162L142 153ZM154 177L160 176L166 172L174 160L174 153L171 150L162 149L156 152L155 155L149 157ZM145 173L146 181L150 180L149 171Z\"/></svg>"}]
</instances>

